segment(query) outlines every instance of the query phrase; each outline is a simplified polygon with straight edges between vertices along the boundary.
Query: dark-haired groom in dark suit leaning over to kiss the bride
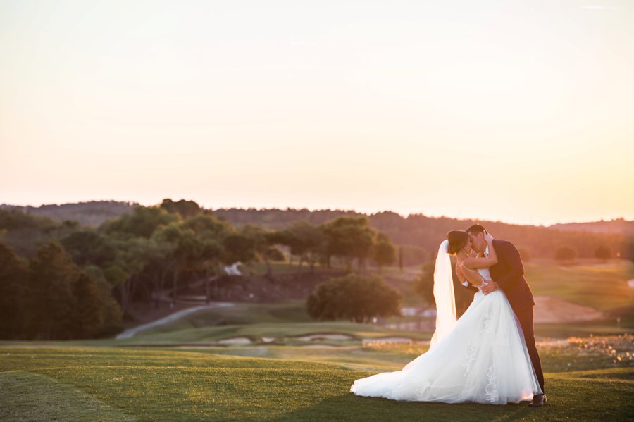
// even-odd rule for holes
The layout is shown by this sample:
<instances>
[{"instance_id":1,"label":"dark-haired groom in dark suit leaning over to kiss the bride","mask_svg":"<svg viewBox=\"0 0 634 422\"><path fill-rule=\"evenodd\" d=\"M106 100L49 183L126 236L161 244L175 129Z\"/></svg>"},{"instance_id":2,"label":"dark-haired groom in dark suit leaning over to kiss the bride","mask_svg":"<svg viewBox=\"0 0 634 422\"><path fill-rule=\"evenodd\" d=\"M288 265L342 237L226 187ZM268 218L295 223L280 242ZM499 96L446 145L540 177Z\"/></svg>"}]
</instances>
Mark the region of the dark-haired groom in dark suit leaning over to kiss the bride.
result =
<instances>
[{"instance_id":1,"label":"dark-haired groom in dark suit leaning over to kiss the bride","mask_svg":"<svg viewBox=\"0 0 634 422\"><path fill-rule=\"evenodd\" d=\"M484 237L485 228L482 225L474 224L466 232L471 238L473 249L480 254L487 255L488 247ZM511 304L511 308L513 308L522 326L530 361L533 362L535 375L537 375L537 380L540 383L540 387L542 387L542 392L545 392L542 362L540 361L540 355L537 353L537 347L535 347L535 331L533 329L535 299L533 299L533 293L530 292L530 287L528 287L528 283L524 279L522 259L511 242L494 239L493 247L495 247L495 252L497 252L497 264L489 268L493 282L485 285L482 292L489 294L490 292L495 292L495 290L502 289L504 294L506 294L506 299L509 299L509 304ZM467 283L465 287L473 287L468 285L468 282L465 283ZM540 394L533 396L533 401L530 402L529 406L542 406L545 403L546 395Z\"/></svg>"}]
</instances>

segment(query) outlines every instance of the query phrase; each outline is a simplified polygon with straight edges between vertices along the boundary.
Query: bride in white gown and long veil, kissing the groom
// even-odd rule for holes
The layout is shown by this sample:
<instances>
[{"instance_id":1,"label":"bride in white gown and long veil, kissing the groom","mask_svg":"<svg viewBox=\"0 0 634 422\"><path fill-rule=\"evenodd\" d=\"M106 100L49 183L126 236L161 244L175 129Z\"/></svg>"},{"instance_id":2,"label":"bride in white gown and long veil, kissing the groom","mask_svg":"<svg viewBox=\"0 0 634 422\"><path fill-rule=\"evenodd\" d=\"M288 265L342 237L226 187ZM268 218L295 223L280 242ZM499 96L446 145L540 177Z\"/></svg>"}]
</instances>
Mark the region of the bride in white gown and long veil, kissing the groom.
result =
<instances>
[{"instance_id":1,"label":"bride in white gown and long veil, kissing the groom","mask_svg":"<svg viewBox=\"0 0 634 422\"><path fill-rule=\"evenodd\" d=\"M428 352L400 371L355 380L355 395L418 402L507 404L530 401L542 391L531 364L521 325L502 290L483 294L491 280L488 267L497 263L491 235L488 257L471 257L468 234L449 232L440 244L434 271L436 330ZM456 273L478 291L456 321L449 255Z\"/></svg>"}]
</instances>

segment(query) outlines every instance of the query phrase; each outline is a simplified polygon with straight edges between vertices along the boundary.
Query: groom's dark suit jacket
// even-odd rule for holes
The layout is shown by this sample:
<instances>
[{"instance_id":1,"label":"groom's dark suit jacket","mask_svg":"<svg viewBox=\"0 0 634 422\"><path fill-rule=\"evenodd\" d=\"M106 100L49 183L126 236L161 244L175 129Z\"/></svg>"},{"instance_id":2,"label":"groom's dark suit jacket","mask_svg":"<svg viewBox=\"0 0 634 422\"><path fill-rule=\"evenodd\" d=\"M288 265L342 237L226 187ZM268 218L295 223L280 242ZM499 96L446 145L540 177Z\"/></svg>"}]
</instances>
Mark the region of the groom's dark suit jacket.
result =
<instances>
[{"instance_id":1,"label":"groom's dark suit jacket","mask_svg":"<svg viewBox=\"0 0 634 422\"><path fill-rule=\"evenodd\" d=\"M489 268L491 278L506 294L509 304L514 311L535 305L533 292L524 278L524 265L521 256L511 242L493 240L493 247L497 253L497 263ZM473 287L469 285L469 287Z\"/></svg>"}]
</instances>

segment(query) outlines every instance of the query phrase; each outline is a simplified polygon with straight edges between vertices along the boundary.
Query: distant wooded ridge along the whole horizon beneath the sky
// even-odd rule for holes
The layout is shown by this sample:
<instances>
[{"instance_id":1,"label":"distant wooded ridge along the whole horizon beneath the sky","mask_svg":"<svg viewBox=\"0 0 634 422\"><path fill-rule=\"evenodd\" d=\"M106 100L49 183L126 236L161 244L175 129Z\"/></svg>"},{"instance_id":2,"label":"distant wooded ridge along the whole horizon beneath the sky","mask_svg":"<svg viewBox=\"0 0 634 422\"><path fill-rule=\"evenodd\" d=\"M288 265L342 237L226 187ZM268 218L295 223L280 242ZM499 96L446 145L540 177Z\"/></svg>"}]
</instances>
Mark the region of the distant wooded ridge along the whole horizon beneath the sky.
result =
<instances>
[{"instance_id":1,"label":"distant wooded ridge along the whole horizon beneath the sky","mask_svg":"<svg viewBox=\"0 0 634 422\"><path fill-rule=\"evenodd\" d=\"M196 204L194 204L194 209ZM108 218L116 218L131 211L137 203L116 201L90 201L78 204L33 206L0 205L4 209L20 209L37 216L46 216L55 221L75 220L81 225L97 227ZM392 211L364 214L353 210L321 209L256 209L221 208L207 209L218 217L225 218L237 227L245 224L259 225L268 229L281 229L298 220L319 225L339 216L366 216L370 225L384 232L394 244L411 244L423 247L433 256L449 230L464 230L473 223L481 223L497 238L514 242L519 249L533 257L554 257L559 247L570 246L581 258L592 258L599 246L607 246L623 258L634 256L634 222L614 220L597 223L557 224L550 227L516 225L499 221L458 220L447 217L428 217L423 214L401 216Z\"/></svg>"}]
</instances>

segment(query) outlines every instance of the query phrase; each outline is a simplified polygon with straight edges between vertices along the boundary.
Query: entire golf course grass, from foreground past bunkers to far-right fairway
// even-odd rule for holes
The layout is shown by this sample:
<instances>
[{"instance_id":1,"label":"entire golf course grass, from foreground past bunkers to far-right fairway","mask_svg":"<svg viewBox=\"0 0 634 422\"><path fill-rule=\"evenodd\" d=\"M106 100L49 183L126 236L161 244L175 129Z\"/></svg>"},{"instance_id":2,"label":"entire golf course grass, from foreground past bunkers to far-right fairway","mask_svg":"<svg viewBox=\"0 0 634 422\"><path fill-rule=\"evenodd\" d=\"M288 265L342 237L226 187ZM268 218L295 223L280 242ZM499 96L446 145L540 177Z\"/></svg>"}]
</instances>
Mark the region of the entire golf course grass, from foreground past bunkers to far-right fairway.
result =
<instances>
[{"instance_id":1,"label":"entire golf course grass, from foreground past bunkers to far-right fairway","mask_svg":"<svg viewBox=\"0 0 634 422\"><path fill-rule=\"evenodd\" d=\"M537 324L544 408L357 397L355 379L402 368L432 333L311 321L304 302L287 301L206 309L126 340L0 342L0 421L634 420L633 266L527 267L535 294L630 309L620 325Z\"/></svg>"}]
</instances>

